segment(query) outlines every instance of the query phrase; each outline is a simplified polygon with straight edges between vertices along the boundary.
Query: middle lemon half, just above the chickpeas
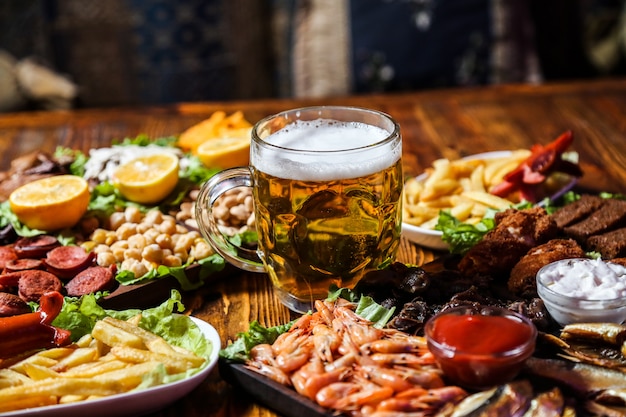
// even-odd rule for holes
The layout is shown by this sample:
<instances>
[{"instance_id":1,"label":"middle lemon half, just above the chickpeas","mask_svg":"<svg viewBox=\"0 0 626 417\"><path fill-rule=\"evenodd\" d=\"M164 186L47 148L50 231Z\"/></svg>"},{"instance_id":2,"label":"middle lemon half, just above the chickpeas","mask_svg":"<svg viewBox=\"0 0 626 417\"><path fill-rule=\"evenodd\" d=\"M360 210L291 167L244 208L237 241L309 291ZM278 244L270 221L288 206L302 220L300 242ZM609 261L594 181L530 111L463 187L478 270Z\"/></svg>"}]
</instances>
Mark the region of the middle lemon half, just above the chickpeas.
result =
<instances>
[{"instance_id":1,"label":"middle lemon half, just above the chickpeas","mask_svg":"<svg viewBox=\"0 0 626 417\"><path fill-rule=\"evenodd\" d=\"M117 167L113 183L130 201L158 203L178 183L178 157L169 152L140 156Z\"/></svg>"}]
</instances>

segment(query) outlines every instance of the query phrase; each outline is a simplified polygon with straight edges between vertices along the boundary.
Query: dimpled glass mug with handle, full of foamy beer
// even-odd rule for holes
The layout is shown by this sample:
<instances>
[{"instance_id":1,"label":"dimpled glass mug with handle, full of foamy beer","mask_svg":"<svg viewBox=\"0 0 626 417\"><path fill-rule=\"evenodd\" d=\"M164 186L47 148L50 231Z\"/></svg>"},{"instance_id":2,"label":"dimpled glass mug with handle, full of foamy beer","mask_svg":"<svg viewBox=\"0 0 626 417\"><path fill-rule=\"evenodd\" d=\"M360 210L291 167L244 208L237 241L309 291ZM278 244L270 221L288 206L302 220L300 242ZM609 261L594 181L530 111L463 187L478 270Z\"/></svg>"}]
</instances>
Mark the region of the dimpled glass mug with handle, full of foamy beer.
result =
<instances>
[{"instance_id":1,"label":"dimpled glass mug with handle, full of foamy beer","mask_svg":"<svg viewBox=\"0 0 626 417\"><path fill-rule=\"evenodd\" d=\"M212 216L217 198L252 187L258 249L234 246ZM309 107L259 121L250 166L222 171L196 201L207 241L231 264L270 276L281 302L307 312L331 284L352 288L393 261L400 242L402 138L388 115Z\"/></svg>"}]
</instances>

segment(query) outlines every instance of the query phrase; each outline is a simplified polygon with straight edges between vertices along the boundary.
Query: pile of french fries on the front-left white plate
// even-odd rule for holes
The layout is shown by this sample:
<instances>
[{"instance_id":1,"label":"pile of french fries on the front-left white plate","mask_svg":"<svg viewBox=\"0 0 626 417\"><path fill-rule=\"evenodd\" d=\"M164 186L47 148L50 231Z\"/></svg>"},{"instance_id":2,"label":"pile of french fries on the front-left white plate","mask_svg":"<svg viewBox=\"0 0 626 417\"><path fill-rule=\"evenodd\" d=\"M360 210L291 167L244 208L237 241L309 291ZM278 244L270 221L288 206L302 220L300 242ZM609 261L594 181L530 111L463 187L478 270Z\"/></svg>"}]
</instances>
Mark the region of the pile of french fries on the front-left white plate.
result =
<instances>
[{"instance_id":1,"label":"pile of french fries on the front-left white plate","mask_svg":"<svg viewBox=\"0 0 626 417\"><path fill-rule=\"evenodd\" d=\"M169 375L199 368L205 359L170 345L128 321L107 317L68 347L39 351L0 369L0 412L68 404L137 388L157 367Z\"/></svg>"}]
</instances>

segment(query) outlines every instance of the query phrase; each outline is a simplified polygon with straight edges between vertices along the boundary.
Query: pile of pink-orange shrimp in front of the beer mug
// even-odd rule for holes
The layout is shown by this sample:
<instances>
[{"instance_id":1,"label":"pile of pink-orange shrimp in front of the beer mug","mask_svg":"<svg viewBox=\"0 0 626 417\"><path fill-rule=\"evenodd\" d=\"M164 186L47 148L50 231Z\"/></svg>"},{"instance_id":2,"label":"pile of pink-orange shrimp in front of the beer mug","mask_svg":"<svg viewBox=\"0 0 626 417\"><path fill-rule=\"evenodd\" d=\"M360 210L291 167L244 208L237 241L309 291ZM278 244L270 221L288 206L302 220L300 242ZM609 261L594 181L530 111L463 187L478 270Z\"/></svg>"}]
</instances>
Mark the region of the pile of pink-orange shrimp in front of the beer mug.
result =
<instances>
[{"instance_id":1,"label":"pile of pink-orange shrimp in front of the beer mug","mask_svg":"<svg viewBox=\"0 0 626 417\"><path fill-rule=\"evenodd\" d=\"M379 329L345 300L318 301L246 367L355 417L427 417L468 394L446 386L424 337Z\"/></svg>"}]
</instances>

